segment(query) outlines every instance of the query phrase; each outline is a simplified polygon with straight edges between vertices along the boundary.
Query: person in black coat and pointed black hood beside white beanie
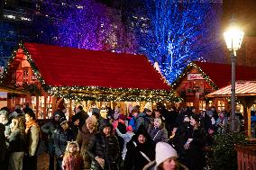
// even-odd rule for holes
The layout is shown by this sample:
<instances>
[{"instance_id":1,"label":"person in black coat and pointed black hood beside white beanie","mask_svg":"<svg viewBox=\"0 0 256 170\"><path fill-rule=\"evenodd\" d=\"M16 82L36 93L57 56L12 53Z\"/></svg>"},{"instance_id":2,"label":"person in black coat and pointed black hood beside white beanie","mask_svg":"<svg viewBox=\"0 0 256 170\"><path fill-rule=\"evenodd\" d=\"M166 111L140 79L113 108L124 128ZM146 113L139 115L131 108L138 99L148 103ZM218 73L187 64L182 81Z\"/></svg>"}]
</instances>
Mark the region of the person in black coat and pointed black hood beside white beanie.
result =
<instances>
[{"instance_id":1,"label":"person in black coat and pointed black hood beside white beanie","mask_svg":"<svg viewBox=\"0 0 256 170\"><path fill-rule=\"evenodd\" d=\"M142 170L155 159L155 145L143 125L127 144L123 170Z\"/></svg>"}]
</instances>

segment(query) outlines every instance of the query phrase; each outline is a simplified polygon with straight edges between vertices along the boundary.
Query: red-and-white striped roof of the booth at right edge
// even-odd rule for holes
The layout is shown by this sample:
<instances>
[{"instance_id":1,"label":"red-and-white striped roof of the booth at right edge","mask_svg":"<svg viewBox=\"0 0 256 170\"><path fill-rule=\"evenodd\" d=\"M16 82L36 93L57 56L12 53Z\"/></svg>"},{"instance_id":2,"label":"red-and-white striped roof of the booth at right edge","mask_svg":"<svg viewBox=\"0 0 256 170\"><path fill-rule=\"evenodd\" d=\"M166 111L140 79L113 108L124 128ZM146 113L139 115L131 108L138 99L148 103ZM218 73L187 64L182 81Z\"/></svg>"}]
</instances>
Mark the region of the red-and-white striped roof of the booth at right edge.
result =
<instances>
[{"instance_id":1,"label":"red-and-white striped roof of the booth at right edge","mask_svg":"<svg viewBox=\"0 0 256 170\"><path fill-rule=\"evenodd\" d=\"M219 90L211 94L207 94L207 97L217 97L217 96L230 96L231 95L231 85L224 86ZM239 81L235 83L235 95L256 95L256 82L255 81Z\"/></svg>"}]
</instances>

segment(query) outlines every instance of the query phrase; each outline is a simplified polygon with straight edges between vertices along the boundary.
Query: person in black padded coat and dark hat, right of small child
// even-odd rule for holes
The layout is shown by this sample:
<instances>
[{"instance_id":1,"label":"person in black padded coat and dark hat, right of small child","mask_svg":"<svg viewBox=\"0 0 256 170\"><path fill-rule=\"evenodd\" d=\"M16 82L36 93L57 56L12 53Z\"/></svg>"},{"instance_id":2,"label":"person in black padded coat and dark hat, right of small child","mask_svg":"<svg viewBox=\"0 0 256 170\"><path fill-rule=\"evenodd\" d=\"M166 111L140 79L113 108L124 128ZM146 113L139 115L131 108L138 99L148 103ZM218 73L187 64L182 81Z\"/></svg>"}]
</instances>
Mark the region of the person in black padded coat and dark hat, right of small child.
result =
<instances>
[{"instance_id":1,"label":"person in black padded coat and dark hat, right of small child","mask_svg":"<svg viewBox=\"0 0 256 170\"><path fill-rule=\"evenodd\" d=\"M87 154L92 159L91 170L118 170L120 148L111 124L103 125L101 132L92 137Z\"/></svg>"}]
</instances>

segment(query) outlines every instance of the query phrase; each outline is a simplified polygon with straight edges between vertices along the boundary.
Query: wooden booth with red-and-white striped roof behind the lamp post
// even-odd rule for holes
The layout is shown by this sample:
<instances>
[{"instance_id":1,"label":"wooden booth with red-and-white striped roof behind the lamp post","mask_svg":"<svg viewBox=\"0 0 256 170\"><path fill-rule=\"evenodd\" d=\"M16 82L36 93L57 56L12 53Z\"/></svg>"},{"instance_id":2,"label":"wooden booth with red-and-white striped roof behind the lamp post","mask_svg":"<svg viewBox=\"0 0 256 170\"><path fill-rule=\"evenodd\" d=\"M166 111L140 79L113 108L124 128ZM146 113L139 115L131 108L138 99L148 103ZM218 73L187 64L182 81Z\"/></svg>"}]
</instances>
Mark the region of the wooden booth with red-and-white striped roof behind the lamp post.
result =
<instances>
[{"instance_id":1,"label":"wooden booth with red-and-white striped roof behind the lamp post","mask_svg":"<svg viewBox=\"0 0 256 170\"><path fill-rule=\"evenodd\" d=\"M206 96L213 99L223 98L228 101L231 96L231 85L226 85L213 93L207 94ZM237 111L241 110L240 104L242 104L244 129L248 130L249 136L256 138L256 81L236 81L235 97Z\"/></svg>"}]
</instances>

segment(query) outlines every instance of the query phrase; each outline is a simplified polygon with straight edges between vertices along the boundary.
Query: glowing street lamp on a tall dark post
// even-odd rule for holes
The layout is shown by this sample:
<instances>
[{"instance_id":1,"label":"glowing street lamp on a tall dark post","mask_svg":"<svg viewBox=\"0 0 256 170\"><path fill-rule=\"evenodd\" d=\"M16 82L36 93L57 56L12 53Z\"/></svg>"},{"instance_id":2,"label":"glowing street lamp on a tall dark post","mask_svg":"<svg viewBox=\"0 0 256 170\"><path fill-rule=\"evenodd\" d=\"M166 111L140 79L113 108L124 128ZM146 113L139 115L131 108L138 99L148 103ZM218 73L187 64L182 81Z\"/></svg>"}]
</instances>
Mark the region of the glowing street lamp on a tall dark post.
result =
<instances>
[{"instance_id":1,"label":"glowing street lamp on a tall dark post","mask_svg":"<svg viewBox=\"0 0 256 170\"><path fill-rule=\"evenodd\" d=\"M244 32L240 30L235 23L232 21L227 31L224 31L224 40L227 49L231 52L231 116L232 116L232 131L234 130L234 119L235 119L235 59L236 50L240 49L242 44Z\"/></svg>"}]
</instances>

